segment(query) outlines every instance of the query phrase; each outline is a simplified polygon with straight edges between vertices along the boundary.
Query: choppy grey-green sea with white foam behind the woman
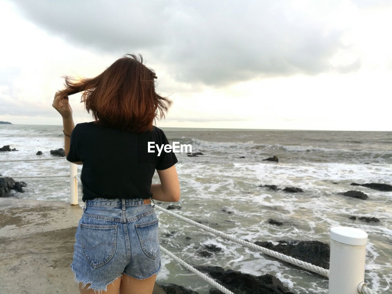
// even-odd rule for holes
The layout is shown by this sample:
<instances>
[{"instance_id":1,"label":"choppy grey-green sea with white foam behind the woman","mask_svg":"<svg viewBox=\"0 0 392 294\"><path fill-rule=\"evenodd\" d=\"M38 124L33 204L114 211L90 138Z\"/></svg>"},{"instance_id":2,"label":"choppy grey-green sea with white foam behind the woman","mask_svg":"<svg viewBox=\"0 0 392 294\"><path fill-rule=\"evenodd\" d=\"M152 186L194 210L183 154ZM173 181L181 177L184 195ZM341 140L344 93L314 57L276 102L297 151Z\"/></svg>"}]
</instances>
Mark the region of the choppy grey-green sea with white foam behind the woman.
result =
<instances>
[{"instance_id":1,"label":"choppy grey-green sea with white foam behind the woman","mask_svg":"<svg viewBox=\"0 0 392 294\"><path fill-rule=\"evenodd\" d=\"M16 198L70 201L69 178L25 178L69 175L69 162L50 154L52 149L64 148L62 129L62 125L0 125L0 147L10 145L18 150L0 152L0 161L52 159L0 162L0 174L27 183L24 193L15 192ZM252 243L329 243L332 227L364 230L368 234L365 282L377 293L392 292L392 192L350 185L392 184L392 132L161 129L169 142L190 144L193 153L203 155L176 153L181 199L177 203L155 201L155 205L179 205L180 209L171 211ZM43 154L37 156L37 151ZM277 156L279 162L263 160L272 156ZM82 168L78 165L79 176ZM156 173L153 183L159 183ZM274 191L260 185L298 187L304 192ZM83 205L81 185L78 190ZM349 190L362 191L369 198L339 194ZM327 279L155 211L160 244L191 265L219 266L255 276L268 273L292 292L328 293ZM358 220L361 216L376 217L379 222ZM270 224L270 218L283 225ZM204 247L209 244L221 251L203 257L200 251L209 251ZM213 288L162 251L161 258L158 284L174 283L200 294Z\"/></svg>"}]
</instances>

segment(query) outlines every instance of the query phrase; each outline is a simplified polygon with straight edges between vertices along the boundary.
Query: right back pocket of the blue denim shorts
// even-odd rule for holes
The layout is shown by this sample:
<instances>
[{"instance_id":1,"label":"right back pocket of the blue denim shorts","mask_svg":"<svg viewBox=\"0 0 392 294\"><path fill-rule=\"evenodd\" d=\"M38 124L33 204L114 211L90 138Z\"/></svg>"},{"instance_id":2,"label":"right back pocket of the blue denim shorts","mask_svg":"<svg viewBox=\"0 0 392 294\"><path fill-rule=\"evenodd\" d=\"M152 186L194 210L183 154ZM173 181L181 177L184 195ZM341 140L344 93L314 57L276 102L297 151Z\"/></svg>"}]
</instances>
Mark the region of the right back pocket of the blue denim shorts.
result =
<instances>
[{"instance_id":1,"label":"right back pocket of the blue denim shorts","mask_svg":"<svg viewBox=\"0 0 392 294\"><path fill-rule=\"evenodd\" d=\"M156 259L159 253L158 219L148 223L136 223L135 227L144 253L149 258Z\"/></svg>"}]
</instances>

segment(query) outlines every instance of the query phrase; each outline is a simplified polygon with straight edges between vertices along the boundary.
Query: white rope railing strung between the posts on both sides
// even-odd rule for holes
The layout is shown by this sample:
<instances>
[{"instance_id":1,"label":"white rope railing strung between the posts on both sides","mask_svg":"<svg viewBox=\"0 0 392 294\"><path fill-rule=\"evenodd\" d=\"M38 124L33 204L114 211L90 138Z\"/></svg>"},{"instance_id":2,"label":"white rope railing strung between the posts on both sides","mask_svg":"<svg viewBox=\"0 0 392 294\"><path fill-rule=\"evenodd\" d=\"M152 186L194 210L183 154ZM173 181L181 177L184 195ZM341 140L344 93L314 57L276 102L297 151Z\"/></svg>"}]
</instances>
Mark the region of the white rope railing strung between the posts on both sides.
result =
<instances>
[{"instance_id":1,"label":"white rope railing strung between the posts on both sides","mask_svg":"<svg viewBox=\"0 0 392 294\"><path fill-rule=\"evenodd\" d=\"M62 158L64 158L64 157L60 157L60 158L28 159L28 160L1 160L0 162L40 161L40 160L62 159ZM16 176L13 176L13 178L65 178L65 177L70 178L70 175L65 175L65 176L18 176L18 175L16 175ZM81 180L79 179L79 177L77 175L75 175L74 178L77 180L77 182L82 184ZM302 260L298 260L298 259L293 258L291 256L287 256L287 255L282 254L280 252L276 252L274 250L270 250L270 249L267 249L265 247L261 247L259 245L254 244L254 243L250 243L248 241L245 241L245 240L242 240L240 238L237 238L237 237L231 236L229 234L226 234L226 233L224 233L222 231L219 231L219 230L216 230L216 229L212 229L211 227L208 227L206 225L203 225L201 223L193 221L193 220L191 220L189 218L185 218L184 216L180 216L179 214L171 212L171 211L169 211L167 209L164 209L163 207L160 207L158 205L154 205L154 207L156 207L160 211L163 211L166 214L174 216L175 218L178 218L178 219L183 220L183 221L185 221L187 223L190 223L191 225L195 225L196 227L199 227L199 228L201 228L203 230L207 230L209 232L212 232L213 234L216 234L216 235L221 236L223 238L226 238L228 240L234 241L234 242L236 242L236 243L238 243L238 244L240 244L242 246L248 247L250 249L261 251L263 254L266 254L266 255L271 256L273 258L276 258L278 260L285 261L285 262L290 263L292 265L296 265L296 266L298 266L298 267L300 267L302 269L309 270L311 272L315 272L316 274L319 274L321 276L329 278L329 270L328 269L324 269L324 268L319 267L317 265L313 265L311 263L308 263L308 262L305 262L305 261L302 261ZM174 258L174 260L176 260L179 263L181 263L182 265L184 265L187 269L191 270L191 272L194 272L195 274L197 274L198 276L203 278L205 281L207 281L208 283L210 283L211 285L213 285L214 287L219 289L221 292L223 292L225 294L234 294L233 292L231 292L230 290L226 289L225 287L223 287L222 285L220 285L219 283L217 283L213 279L209 278L207 275L203 274L199 270L195 269L194 267L192 267L191 265L189 265L185 261L181 260L180 258L175 256L174 254L169 252L167 249L165 249L161 245L160 245L160 248L163 250L163 252L165 252L166 254L171 256L172 258ZM366 283L364 283L364 282L359 283L357 290L358 290L358 293L360 293L360 294L377 294L372 289L369 289L367 287Z\"/></svg>"}]
</instances>

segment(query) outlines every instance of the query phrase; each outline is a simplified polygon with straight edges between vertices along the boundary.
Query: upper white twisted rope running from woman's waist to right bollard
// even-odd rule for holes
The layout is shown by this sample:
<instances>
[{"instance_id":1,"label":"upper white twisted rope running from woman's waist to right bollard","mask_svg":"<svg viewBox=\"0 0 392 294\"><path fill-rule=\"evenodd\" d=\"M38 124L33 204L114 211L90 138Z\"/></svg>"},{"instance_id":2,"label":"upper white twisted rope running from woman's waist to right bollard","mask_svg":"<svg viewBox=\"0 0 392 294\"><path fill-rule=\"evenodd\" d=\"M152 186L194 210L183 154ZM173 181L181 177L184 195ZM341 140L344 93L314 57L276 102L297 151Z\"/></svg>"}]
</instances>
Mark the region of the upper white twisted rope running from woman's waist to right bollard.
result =
<instances>
[{"instance_id":1,"label":"upper white twisted rope running from woman's waist to right bollard","mask_svg":"<svg viewBox=\"0 0 392 294\"><path fill-rule=\"evenodd\" d=\"M234 241L236 243L239 243L243 246L249 247L250 249L255 249L255 250L259 250L261 252L263 252L264 254L267 254L269 256L272 256L274 258L277 258L279 260L283 260L285 262L291 263L293 265L297 265L298 267L301 267L303 269L307 269L310 270L312 272L316 272L318 274L320 274L321 276L325 276L325 277L329 277L329 270L327 269L323 269L322 267L318 267L317 265L312 265L311 263L307 263L305 261L302 260L298 260L296 258L292 258L291 256L287 256L284 254L281 254L279 252L258 246L256 244L250 243L248 241L242 240L240 238L236 238L234 236L230 236L229 234L226 234L224 232L212 229L206 225L202 225L201 223L197 223L196 221L190 220L189 218L185 218L183 216L180 216L179 214L176 214L174 212L168 211L167 209L164 209L162 207L159 207L158 205L155 205L154 207L158 208L159 210L166 212L167 214L170 214L180 220L186 221L187 223L191 223L192 225L195 225L197 227L200 227L201 229L207 230L209 232L212 232L216 235L222 236L224 238L227 238L231 241Z\"/></svg>"}]
</instances>

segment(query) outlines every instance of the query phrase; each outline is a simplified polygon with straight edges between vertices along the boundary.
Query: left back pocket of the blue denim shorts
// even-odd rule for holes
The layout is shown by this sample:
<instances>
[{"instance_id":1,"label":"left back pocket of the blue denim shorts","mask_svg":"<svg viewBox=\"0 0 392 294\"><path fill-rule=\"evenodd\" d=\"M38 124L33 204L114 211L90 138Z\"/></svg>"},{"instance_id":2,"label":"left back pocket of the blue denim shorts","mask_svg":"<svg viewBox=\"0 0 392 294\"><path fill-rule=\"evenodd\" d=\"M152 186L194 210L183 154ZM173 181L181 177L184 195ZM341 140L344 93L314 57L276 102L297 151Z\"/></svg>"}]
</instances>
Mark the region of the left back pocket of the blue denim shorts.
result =
<instances>
[{"instance_id":1,"label":"left back pocket of the blue denim shorts","mask_svg":"<svg viewBox=\"0 0 392 294\"><path fill-rule=\"evenodd\" d=\"M117 225L80 224L85 260L94 269L105 265L116 252Z\"/></svg>"}]
</instances>

